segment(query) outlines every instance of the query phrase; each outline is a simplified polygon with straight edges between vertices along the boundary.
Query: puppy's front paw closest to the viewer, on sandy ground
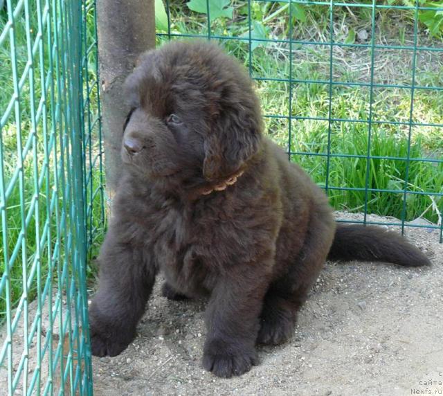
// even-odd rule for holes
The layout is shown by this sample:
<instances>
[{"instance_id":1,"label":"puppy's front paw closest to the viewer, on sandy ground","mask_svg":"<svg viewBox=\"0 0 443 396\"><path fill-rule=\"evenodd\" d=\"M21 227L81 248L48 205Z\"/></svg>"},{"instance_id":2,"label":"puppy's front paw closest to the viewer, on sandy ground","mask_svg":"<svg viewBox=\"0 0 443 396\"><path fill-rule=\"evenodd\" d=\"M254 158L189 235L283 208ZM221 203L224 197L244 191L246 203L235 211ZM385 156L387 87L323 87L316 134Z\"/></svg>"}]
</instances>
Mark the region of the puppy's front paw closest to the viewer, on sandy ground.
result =
<instances>
[{"instance_id":1,"label":"puppy's front paw closest to the viewer, on sandy ground","mask_svg":"<svg viewBox=\"0 0 443 396\"><path fill-rule=\"evenodd\" d=\"M232 348L223 341L207 341L203 366L217 377L230 378L233 375L242 375L257 364L257 352L246 345Z\"/></svg>"}]
</instances>

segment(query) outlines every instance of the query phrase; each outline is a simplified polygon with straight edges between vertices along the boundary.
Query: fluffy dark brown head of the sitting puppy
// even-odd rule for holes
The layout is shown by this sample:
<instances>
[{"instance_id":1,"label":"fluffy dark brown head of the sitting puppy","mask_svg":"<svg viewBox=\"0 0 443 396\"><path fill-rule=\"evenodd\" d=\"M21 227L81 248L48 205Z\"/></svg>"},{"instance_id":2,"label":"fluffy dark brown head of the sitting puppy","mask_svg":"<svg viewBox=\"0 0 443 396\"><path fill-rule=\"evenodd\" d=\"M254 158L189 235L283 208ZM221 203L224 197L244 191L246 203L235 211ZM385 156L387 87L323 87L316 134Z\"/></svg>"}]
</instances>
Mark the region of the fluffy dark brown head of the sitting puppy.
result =
<instances>
[{"instance_id":1,"label":"fluffy dark brown head of the sitting puppy","mask_svg":"<svg viewBox=\"0 0 443 396\"><path fill-rule=\"evenodd\" d=\"M147 177L217 183L242 170L260 146L251 79L214 44L172 42L147 52L126 91L132 110L123 161Z\"/></svg>"}]
</instances>

